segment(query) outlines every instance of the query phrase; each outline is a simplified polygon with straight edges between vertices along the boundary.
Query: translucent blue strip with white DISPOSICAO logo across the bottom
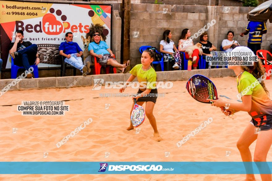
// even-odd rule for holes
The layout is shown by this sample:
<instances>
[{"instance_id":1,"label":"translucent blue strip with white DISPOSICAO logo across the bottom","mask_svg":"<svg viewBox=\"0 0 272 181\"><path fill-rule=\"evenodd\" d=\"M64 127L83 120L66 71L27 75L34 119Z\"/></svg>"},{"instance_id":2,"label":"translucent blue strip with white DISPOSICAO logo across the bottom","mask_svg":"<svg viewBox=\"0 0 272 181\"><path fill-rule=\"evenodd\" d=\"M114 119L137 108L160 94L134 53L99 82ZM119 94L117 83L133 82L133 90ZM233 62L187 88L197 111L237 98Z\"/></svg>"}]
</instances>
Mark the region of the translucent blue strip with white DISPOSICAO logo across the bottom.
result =
<instances>
[{"instance_id":1,"label":"translucent blue strip with white DISPOSICAO logo across the bottom","mask_svg":"<svg viewBox=\"0 0 272 181\"><path fill-rule=\"evenodd\" d=\"M271 174L272 162L0 162L0 174Z\"/></svg>"}]
</instances>

